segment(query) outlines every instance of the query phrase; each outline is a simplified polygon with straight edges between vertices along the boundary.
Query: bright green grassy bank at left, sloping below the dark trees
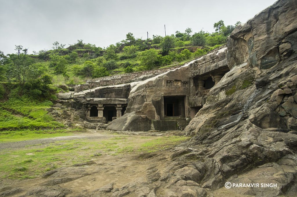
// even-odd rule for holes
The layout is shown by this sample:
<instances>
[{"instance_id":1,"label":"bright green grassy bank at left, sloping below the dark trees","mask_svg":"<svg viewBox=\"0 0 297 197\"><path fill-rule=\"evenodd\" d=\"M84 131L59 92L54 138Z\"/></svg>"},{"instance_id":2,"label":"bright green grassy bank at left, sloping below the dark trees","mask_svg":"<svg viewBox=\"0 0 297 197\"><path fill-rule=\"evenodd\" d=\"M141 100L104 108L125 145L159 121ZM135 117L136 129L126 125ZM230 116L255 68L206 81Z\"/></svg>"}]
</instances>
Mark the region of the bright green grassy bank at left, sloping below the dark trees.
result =
<instances>
[{"instance_id":1,"label":"bright green grassy bank at left, sloping below the dark trees","mask_svg":"<svg viewBox=\"0 0 297 197\"><path fill-rule=\"evenodd\" d=\"M38 102L26 97L0 103L0 130L64 127L46 111L51 105L50 101Z\"/></svg>"}]
</instances>

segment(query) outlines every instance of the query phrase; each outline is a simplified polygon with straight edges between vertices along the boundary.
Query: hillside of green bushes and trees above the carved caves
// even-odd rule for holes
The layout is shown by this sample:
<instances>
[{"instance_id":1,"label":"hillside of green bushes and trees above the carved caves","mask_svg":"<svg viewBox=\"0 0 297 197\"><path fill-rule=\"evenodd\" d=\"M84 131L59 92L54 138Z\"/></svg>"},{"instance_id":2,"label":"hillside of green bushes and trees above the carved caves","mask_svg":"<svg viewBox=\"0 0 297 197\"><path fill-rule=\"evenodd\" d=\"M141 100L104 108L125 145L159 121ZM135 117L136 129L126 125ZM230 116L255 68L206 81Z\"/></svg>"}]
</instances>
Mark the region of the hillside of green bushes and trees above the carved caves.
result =
<instances>
[{"instance_id":1,"label":"hillside of green bushes and trees above the carved caves","mask_svg":"<svg viewBox=\"0 0 297 197\"><path fill-rule=\"evenodd\" d=\"M65 44L56 41L53 50L34 51L31 55L18 45L18 54L0 52L0 80L27 86L25 90L32 90L40 80L48 85L47 89L54 91L59 84L78 84L90 78L178 65L225 44L235 26L225 26L221 20L214 24L214 28L214 33L202 30L192 33L192 29L187 28L184 33L176 31L165 37L153 35L148 40L128 33L125 40L106 48L78 40L64 49ZM45 74L49 75L53 85L42 78ZM31 91L35 96L48 97L49 92L42 91L42 87L35 89ZM3 95L2 90L0 85L0 95Z\"/></svg>"}]
</instances>

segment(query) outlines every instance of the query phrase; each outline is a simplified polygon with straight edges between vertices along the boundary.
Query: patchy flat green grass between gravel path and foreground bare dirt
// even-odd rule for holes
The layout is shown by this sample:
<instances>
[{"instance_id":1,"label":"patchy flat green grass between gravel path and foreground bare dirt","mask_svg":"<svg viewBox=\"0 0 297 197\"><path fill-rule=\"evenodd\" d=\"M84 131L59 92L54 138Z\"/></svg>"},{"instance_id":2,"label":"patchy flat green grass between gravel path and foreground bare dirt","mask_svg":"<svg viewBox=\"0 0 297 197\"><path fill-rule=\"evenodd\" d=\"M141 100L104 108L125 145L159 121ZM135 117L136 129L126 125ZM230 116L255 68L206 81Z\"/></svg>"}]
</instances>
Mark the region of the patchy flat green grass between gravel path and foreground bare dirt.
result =
<instances>
[{"instance_id":1,"label":"patchy flat green grass between gravel path and foreground bare dirt","mask_svg":"<svg viewBox=\"0 0 297 197\"><path fill-rule=\"evenodd\" d=\"M148 136L144 138L127 135L113 136L105 140L78 139L56 141L43 146L36 144L16 151L3 149L0 153L0 177L34 178L52 169L69 167L106 154L116 156L133 152L138 154L139 152L164 151L188 139L188 137L180 136ZM30 135L28 135L29 137Z\"/></svg>"}]
</instances>

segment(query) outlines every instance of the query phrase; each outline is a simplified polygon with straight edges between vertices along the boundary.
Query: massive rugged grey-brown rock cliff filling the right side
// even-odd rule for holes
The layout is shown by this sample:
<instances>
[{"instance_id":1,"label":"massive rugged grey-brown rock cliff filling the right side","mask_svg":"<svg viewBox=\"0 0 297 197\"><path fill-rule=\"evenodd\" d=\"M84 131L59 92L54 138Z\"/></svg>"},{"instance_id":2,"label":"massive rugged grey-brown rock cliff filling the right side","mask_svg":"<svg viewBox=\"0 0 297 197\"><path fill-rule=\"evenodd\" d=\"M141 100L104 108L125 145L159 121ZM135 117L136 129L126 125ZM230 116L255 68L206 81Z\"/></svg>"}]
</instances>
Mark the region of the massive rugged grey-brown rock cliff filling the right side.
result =
<instances>
[{"instance_id":1,"label":"massive rugged grey-brown rock cliff filling the right side","mask_svg":"<svg viewBox=\"0 0 297 197\"><path fill-rule=\"evenodd\" d=\"M168 171L183 169L193 180L195 169L199 180L194 181L202 188L218 189L227 181L277 183L275 189L230 189L257 196L296 195L296 16L296 1L277 1L236 27L227 45L230 71L184 130L193 136L190 146L203 148L181 152Z\"/></svg>"}]
</instances>

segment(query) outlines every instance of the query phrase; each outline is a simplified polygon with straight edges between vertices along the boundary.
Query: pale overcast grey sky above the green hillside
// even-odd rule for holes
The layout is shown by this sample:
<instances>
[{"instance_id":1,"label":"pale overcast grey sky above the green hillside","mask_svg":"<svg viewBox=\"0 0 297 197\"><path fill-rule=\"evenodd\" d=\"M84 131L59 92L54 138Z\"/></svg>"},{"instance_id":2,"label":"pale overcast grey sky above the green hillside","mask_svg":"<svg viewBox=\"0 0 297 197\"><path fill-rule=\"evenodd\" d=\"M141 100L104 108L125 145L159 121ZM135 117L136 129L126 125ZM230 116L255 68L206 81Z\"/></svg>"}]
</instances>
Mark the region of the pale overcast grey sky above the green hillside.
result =
<instances>
[{"instance_id":1,"label":"pale overcast grey sky above the green hillside","mask_svg":"<svg viewBox=\"0 0 297 197\"><path fill-rule=\"evenodd\" d=\"M84 43L106 47L125 39L174 34L192 28L213 32L213 25L246 22L275 0L0 0L0 51L14 53L15 45L32 51L52 43Z\"/></svg>"}]
</instances>

